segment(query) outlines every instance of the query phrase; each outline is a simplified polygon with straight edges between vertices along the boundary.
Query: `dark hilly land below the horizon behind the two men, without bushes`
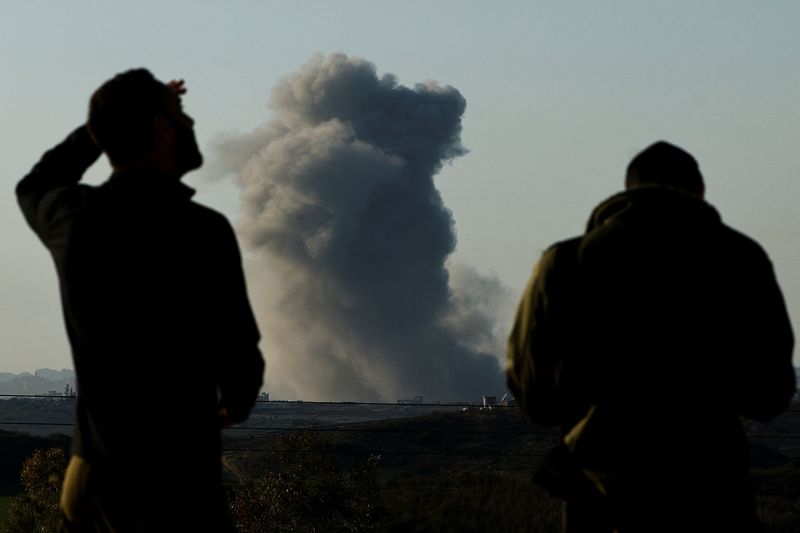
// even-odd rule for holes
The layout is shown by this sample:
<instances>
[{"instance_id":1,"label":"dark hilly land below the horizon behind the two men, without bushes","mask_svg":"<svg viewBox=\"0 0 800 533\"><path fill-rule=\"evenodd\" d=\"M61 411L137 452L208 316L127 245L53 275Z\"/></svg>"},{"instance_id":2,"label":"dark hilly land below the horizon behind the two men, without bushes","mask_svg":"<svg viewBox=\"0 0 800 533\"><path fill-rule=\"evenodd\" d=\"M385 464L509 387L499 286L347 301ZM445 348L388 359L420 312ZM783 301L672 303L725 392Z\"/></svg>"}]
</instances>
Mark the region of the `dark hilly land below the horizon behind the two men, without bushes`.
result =
<instances>
[{"instance_id":1,"label":"dark hilly land below the horizon behind the two men, without bushes","mask_svg":"<svg viewBox=\"0 0 800 533\"><path fill-rule=\"evenodd\" d=\"M74 398L0 400L8 429L41 435L68 432ZM800 405L768 424L748 422L753 479L763 519L772 533L800 523ZM313 439L287 439L291 435ZM345 476L369 458L384 531L556 531L560 502L532 482L557 433L529 424L516 409L259 403L250 420L225 432L228 485L283 464L332 459ZM304 442L316 443L313 448ZM300 443L298 446L297 443ZM36 448L68 447L66 436L32 437L0 431L0 486L14 493L22 460ZM301 468L302 470L302 468ZM310 471L310 470L309 470ZM1 494L0 494L1 495ZM532 524L535 524L532 525Z\"/></svg>"}]
</instances>

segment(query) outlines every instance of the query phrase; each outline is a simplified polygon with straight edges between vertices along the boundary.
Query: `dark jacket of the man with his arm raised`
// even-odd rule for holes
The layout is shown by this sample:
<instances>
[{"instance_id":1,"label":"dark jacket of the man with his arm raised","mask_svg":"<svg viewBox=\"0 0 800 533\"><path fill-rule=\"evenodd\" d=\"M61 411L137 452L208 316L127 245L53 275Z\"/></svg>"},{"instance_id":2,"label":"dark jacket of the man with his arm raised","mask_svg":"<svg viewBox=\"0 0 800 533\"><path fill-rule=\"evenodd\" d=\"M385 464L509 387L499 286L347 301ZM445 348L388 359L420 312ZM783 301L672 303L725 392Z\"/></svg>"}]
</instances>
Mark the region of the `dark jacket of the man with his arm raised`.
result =
<instances>
[{"instance_id":1,"label":"dark jacket of the man with his arm raised","mask_svg":"<svg viewBox=\"0 0 800 533\"><path fill-rule=\"evenodd\" d=\"M17 186L58 271L78 380L73 452L133 474L169 465L160 479L219 478L218 411L243 420L264 369L234 233L175 180L79 184L99 155L78 128Z\"/></svg>"}]
</instances>

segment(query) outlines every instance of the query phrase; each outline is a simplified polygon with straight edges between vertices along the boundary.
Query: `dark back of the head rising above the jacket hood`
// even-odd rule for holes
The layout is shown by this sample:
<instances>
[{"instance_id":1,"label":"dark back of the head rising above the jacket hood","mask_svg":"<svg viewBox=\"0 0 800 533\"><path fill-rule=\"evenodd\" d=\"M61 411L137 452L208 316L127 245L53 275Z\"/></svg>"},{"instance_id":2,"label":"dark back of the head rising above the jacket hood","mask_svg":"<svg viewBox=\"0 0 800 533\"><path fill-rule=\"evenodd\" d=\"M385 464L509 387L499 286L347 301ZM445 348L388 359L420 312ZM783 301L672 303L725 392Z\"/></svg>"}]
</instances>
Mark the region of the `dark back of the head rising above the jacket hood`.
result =
<instances>
[{"instance_id":1,"label":"dark back of the head rising above the jacket hood","mask_svg":"<svg viewBox=\"0 0 800 533\"><path fill-rule=\"evenodd\" d=\"M697 161L675 145L659 141L645 148L628 165L625 188L660 185L703 197L705 184Z\"/></svg>"}]
</instances>

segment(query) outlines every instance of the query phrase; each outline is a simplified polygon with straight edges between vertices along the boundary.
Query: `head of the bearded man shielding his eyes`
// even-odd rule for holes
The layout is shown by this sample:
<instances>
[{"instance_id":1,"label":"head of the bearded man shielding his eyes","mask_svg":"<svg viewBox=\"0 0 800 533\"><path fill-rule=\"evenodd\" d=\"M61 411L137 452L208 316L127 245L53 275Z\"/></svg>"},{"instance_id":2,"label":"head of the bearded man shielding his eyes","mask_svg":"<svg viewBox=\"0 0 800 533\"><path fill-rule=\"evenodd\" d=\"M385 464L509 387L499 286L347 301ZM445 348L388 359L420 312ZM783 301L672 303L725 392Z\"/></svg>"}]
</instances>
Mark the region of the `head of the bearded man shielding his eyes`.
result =
<instances>
[{"instance_id":1,"label":"head of the bearded man shielding his eyes","mask_svg":"<svg viewBox=\"0 0 800 533\"><path fill-rule=\"evenodd\" d=\"M88 127L115 168L153 167L180 177L203 163L180 90L145 69L116 75L92 95Z\"/></svg>"}]
</instances>

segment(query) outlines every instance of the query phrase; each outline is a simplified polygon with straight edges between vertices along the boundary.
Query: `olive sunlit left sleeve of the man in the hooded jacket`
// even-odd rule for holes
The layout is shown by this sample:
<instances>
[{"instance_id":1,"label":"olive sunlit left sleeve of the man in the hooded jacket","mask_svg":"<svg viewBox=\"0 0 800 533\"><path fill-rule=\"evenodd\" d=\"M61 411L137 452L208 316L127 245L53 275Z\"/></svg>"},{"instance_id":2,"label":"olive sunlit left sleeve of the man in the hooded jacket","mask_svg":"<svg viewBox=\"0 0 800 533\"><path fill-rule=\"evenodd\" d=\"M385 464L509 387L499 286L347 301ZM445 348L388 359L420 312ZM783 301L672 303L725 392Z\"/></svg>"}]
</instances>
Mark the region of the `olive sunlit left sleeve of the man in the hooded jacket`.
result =
<instances>
[{"instance_id":1,"label":"olive sunlit left sleeve of the man in the hooded jacket","mask_svg":"<svg viewBox=\"0 0 800 533\"><path fill-rule=\"evenodd\" d=\"M544 252L517 310L508 340L508 388L534 423L557 425L559 419L558 335L550 313L557 248Z\"/></svg>"}]
</instances>

